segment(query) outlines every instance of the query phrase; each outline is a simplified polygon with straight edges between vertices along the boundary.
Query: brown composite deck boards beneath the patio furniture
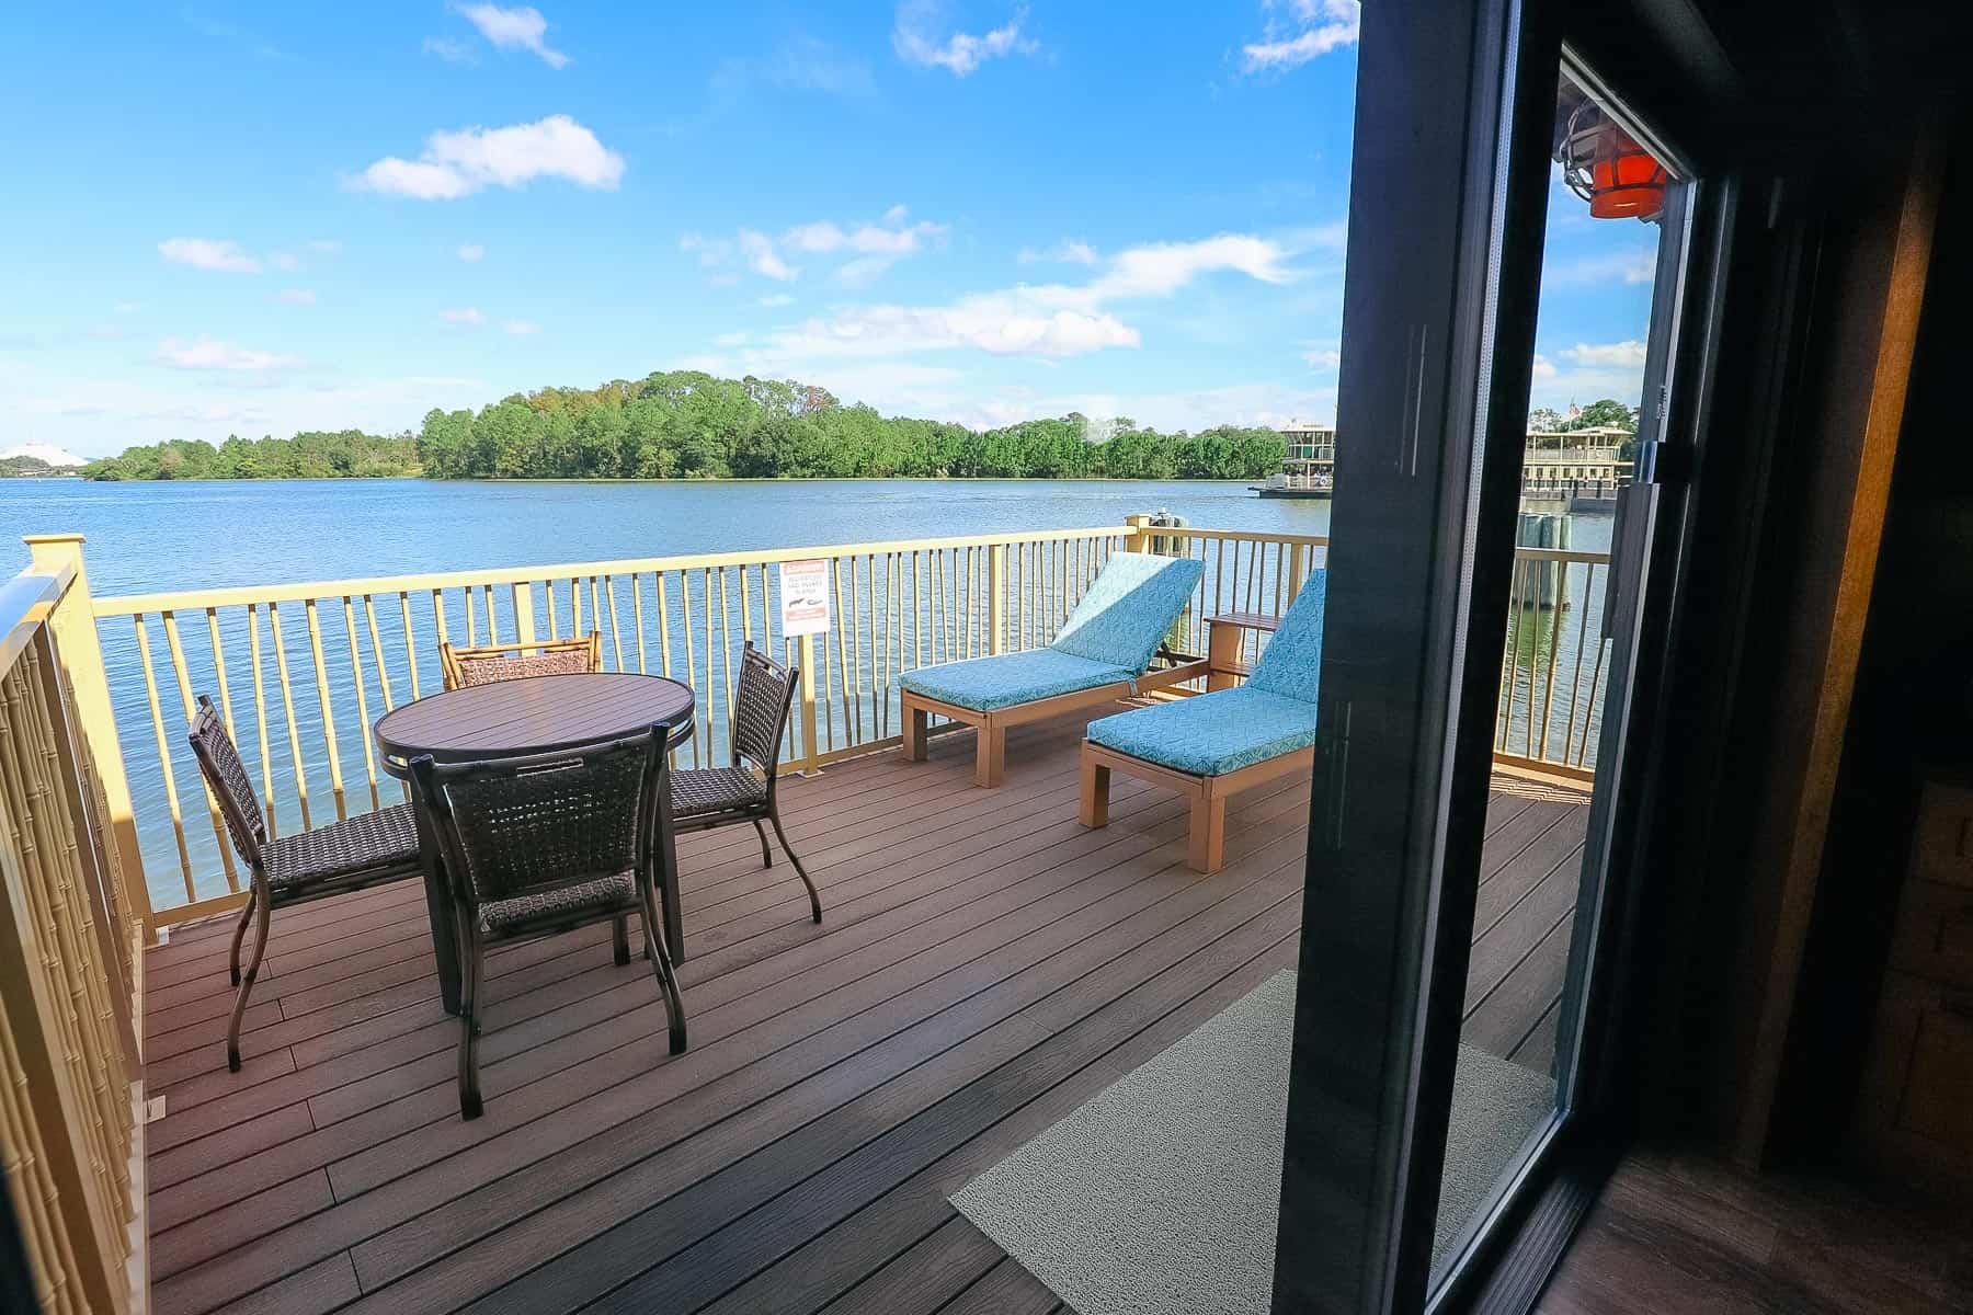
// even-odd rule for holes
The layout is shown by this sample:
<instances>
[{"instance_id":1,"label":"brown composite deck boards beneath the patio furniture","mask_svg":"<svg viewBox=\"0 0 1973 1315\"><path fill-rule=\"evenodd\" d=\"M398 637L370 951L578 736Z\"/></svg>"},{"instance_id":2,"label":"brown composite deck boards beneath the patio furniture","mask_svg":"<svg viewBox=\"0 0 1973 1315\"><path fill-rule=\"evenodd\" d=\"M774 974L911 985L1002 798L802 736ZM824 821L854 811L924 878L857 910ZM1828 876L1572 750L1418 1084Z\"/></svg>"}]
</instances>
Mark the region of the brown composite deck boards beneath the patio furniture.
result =
<instances>
[{"instance_id":1,"label":"brown composite deck boards beneath the patio furniture","mask_svg":"<svg viewBox=\"0 0 1973 1315\"><path fill-rule=\"evenodd\" d=\"M1308 789L1233 804L1227 865L1184 865L1178 798L1119 779L1075 822L1085 718L971 733L785 783L825 923L750 828L681 840L691 1051L608 927L487 960L485 1116L422 891L276 915L225 1071L227 923L150 952L160 1315L314 1311L1056 1311L947 1197L1292 968ZM1499 783L1466 1039L1545 1069L1584 808Z\"/></svg>"}]
</instances>

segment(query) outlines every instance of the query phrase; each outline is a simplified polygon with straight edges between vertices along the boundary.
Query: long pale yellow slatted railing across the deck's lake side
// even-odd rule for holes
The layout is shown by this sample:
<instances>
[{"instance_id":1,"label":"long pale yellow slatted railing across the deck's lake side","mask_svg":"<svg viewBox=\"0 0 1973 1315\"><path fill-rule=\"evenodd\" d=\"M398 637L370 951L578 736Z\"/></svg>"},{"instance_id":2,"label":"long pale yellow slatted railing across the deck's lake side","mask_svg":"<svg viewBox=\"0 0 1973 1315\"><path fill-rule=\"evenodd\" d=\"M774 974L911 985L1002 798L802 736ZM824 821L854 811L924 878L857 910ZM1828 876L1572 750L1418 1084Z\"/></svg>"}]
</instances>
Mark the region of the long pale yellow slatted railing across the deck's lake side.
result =
<instances>
[{"instance_id":1,"label":"long pale yellow slatted railing across the deck's lake side","mask_svg":"<svg viewBox=\"0 0 1973 1315\"><path fill-rule=\"evenodd\" d=\"M801 668L787 761L801 771L898 743L898 678L955 658L1050 643L1113 552L1204 564L1166 643L1206 653L1206 619L1279 615L1328 540L1158 524L580 562L312 584L189 589L89 601L81 544L32 540L43 568L69 564L95 617L73 637L71 676L112 860L146 929L241 899L215 800L197 783L185 724L219 704L256 777L274 834L402 798L369 727L440 686L438 645L602 633L604 664L677 676L698 692L698 733L681 753L720 763L738 649L750 639ZM819 560L831 593L823 633L787 637L779 570ZM1501 660L1496 751L1586 775L1602 700L1606 556L1523 548ZM1592 615L1594 613L1594 615ZM124 743L132 745L126 757ZM144 745L136 749L136 745ZM128 773L128 781L126 781ZM134 802L132 802L134 800ZM150 885L144 871L150 871ZM148 895L146 895L148 891ZM150 903L156 903L152 913Z\"/></svg>"}]
</instances>

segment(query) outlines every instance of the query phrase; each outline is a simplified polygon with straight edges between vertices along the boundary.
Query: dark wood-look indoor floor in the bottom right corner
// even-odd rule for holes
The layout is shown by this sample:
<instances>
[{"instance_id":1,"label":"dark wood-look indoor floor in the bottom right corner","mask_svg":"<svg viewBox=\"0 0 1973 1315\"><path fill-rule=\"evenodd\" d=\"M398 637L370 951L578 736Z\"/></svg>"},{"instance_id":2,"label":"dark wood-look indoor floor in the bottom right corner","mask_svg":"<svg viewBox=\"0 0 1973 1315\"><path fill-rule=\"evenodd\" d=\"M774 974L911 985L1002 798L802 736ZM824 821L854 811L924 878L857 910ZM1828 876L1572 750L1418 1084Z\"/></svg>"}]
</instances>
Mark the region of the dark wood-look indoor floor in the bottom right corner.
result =
<instances>
[{"instance_id":1,"label":"dark wood-look indoor floor in the bottom right corner","mask_svg":"<svg viewBox=\"0 0 1973 1315\"><path fill-rule=\"evenodd\" d=\"M1624 1159L1539 1315L1973 1311L1963 1211L1825 1173L1748 1173L1705 1151Z\"/></svg>"}]
</instances>

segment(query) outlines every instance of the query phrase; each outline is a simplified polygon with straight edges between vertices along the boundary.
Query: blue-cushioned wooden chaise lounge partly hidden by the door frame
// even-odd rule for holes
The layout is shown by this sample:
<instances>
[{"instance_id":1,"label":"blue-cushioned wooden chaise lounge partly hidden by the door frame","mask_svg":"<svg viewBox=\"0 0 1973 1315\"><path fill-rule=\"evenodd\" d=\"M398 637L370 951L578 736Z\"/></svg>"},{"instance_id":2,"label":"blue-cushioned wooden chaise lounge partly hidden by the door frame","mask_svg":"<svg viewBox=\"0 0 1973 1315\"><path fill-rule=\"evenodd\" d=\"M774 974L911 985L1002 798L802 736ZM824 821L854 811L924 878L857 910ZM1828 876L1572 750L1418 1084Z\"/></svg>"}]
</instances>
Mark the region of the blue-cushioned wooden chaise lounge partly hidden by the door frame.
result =
<instances>
[{"instance_id":1,"label":"blue-cushioned wooden chaise lounge partly hidden by the door frame","mask_svg":"<svg viewBox=\"0 0 1973 1315\"><path fill-rule=\"evenodd\" d=\"M1109 822L1109 779L1123 771L1192 800L1194 871L1225 862L1227 798L1316 761L1316 682L1328 572L1312 572L1247 684L1133 708L1089 724L1083 739L1083 826Z\"/></svg>"}]
</instances>

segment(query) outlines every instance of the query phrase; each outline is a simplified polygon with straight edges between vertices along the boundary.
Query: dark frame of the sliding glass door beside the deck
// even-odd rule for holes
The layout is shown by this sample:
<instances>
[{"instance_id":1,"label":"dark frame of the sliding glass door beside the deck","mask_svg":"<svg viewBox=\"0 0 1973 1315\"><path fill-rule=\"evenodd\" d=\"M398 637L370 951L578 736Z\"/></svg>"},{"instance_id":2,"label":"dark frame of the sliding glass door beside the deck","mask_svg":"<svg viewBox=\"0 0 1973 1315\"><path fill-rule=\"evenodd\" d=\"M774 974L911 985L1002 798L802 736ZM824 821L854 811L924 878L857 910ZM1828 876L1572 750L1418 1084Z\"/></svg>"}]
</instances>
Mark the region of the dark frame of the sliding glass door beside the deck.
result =
<instances>
[{"instance_id":1,"label":"dark frame of the sliding glass door beside the deck","mask_svg":"<svg viewBox=\"0 0 1973 1315\"><path fill-rule=\"evenodd\" d=\"M1632 938L1665 765L1677 611L1689 560L1685 485L1711 404L1734 187L1695 189L1683 298L1657 333L1645 406L1663 440L1663 532L1626 605L1638 637L1634 731L1598 883L1606 901L1576 974L1578 1102L1428 1291L1492 733L1505 641L1513 511L1533 365L1543 219L1563 37L1626 91L1634 39L1669 51L1630 101L1693 124L1730 83L1691 34L1659 39L1651 4L1614 18L1555 0L1365 6L1344 296L1322 743L1310 810L1294 1061L1282 1167L1277 1311L1525 1309L1594 1199L1628 1114ZM1673 8L1673 6L1659 6ZM1569 30L1565 32L1565 24ZM1683 41L1683 45L1681 45ZM1667 71L1669 69L1669 71ZM1669 235L1667 235L1669 237ZM1685 248L1685 242L1677 242ZM1671 252L1675 260L1683 252ZM1671 266L1677 268L1675 264ZM1669 373L1667 373L1669 371Z\"/></svg>"}]
</instances>

